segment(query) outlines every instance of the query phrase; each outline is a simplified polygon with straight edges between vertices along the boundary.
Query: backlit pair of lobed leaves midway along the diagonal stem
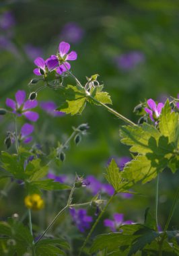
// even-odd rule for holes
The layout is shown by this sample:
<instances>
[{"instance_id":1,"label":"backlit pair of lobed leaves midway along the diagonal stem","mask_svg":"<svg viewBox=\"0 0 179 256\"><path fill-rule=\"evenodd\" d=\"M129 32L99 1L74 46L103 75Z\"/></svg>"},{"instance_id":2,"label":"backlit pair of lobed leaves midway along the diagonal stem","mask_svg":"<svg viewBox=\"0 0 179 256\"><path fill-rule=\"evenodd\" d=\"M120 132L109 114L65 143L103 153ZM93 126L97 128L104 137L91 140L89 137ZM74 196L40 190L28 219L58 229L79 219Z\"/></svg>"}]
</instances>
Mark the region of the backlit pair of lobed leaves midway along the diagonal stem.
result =
<instances>
[{"instance_id":1,"label":"backlit pair of lobed leaves midway along the diagonal stem","mask_svg":"<svg viewBox=\"0 0 179 256\"><path fill-rule=\"evenodd\" d=\"M99 102L112 104L110 96L107 92L102 92L102 89L103 86L96 86L89 93L85 92L85 89L81 86L68 85L67 87L61 87L59 95L61 105L56 110L65 112L66 114L76 115L83 112L87 101L92 104L99 104Z\"/></svg>"}]
</instances>

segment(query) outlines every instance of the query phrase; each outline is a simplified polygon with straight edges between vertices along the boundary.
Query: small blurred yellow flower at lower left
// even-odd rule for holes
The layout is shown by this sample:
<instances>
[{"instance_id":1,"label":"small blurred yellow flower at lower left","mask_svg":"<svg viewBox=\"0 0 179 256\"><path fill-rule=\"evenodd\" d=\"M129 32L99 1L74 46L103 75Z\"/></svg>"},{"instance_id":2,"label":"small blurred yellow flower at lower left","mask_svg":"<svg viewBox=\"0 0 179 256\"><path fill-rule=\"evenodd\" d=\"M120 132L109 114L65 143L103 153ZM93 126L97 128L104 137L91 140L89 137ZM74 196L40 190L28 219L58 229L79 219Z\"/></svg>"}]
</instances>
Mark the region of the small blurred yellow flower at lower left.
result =
<instances>
[{"instance_id":1,"label":"small blurred yellow flower at lower left","mask_svg":"<svg viewBox=\"0 0 179 256\"><path fill-rule=\"evenodd\" d=\"M38 194L27 195L24 203L26 207L32 210L41 210L44 207L44 200Z\"/></svg>"}]
</instances>

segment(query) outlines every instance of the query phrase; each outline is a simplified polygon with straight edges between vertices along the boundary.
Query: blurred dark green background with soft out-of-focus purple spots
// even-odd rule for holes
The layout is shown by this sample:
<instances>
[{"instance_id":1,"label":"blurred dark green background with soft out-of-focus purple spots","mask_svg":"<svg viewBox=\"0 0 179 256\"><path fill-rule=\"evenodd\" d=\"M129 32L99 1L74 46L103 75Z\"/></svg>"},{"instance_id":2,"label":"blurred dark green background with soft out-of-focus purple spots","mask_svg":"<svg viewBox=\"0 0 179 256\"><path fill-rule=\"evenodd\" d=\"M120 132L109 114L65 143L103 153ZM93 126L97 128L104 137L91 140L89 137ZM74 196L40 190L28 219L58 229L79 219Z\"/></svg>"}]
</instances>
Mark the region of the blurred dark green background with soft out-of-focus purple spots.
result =
<instances>
[{"instance_id":1,"label":"blurred dark green background with soft out-of-focus purple spots","mask_svg":"<svg viewBox=\"0 0 179 256\"><path fill-rule=\"evenodd\" d=\"M179 81L179 1L177 0L98 0L98 1L2 1L0 3L0 106L5 99L14 98L17 90L27 94L40 86L28 86L32 78L34 59L57 53L59 42L71 44L77 52L77 61L71 71L85 84L85 76L98 73L119 113L137 122L133 108L148 98L165 102L168 96L177 97ZM72 82L67 78L66 82ZM58 106L60 91L42 90L40 102L52 100ZM102 107L87 106L82 115L52 117L36 108L40 114L35 124L33 141L48 154L48 148L57 147L71 134L72 127L88 123L90 129L81 143L71 143L66 160L51 166L55 174L89 174L104 181L105 166L111 157L128 156L129 150L120 143L116 119ZM18 121L18 127L24 123ZM1 117L1 150L5 150L7 130L13 130L11 117ZM13 152L11 148L9 152ZM123 213L126 220L143 222L145 208L155 210L155 183L137 185L140 195L126 199L116 197L106 216ZM3 187L4 181L1 181ZM159 182L159 224L164 228L174 191L178 187L178 174L165 170ZM24 212L22 190L15 185L3 197L0 218L14 212ZM52 197L52 195L50 195ZM79 193L81 199L81 193ZM49 197L49 195L48 195ZM50 197L50 198L51 198ZM56 197L54 197L56 198ZM55 199L54 199L55 201ZM52 208L52 205L50 205ZM48 205L49 208L49 205ZM51 212L52 209L48 209ZM178 208L172 218L171 229L178 227ZM52 218L49 217L49 218ZM48 220L46 220L48 222ZM38 222L37 222L38 223ZM96 230L99 234L102 224Z\"/></svg>"}]
</instances>

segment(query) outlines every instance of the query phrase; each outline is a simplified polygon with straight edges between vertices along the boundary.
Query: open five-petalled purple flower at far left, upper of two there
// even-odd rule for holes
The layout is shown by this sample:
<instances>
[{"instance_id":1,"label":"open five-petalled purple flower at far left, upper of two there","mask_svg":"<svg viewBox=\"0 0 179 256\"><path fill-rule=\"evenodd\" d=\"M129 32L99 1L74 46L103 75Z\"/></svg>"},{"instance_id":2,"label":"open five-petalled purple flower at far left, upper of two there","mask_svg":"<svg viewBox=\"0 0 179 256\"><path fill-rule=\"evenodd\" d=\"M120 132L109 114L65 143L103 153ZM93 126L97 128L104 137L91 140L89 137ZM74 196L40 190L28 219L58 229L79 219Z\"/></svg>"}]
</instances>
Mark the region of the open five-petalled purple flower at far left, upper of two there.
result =
<instances>
[{"instance_id":1,"label":"open five-petalled purple flower at far left, upper of two there","mask_svg":"<svg viewBox=\"0 0 179 256\"><path fill-rule=\"evenodd\" d=\"M26 100L26 92L19 90L15 94L15 100L7 98L5 104L13 109L13 113L17 116L24 115L28 120L36 122L38 120L38 113L30 111L38 105L37 100Z\"/></svg>"}]
</instances>

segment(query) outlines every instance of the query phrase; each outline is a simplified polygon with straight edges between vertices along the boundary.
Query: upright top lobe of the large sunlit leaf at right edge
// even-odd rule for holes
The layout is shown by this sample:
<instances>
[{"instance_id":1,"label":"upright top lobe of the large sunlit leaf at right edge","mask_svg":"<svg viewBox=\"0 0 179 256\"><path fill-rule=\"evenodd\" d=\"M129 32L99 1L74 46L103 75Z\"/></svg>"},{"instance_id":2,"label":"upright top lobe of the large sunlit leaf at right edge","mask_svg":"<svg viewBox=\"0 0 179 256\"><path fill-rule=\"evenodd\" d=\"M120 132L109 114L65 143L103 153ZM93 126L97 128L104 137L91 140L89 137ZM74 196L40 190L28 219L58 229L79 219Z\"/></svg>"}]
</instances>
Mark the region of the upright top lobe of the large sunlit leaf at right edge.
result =
<instances>
[{"instance_id":1,"label":"upright top lobe of the large sunlit leaf at right edge","mask_svg":"<svg viewBox=\"0 0 179 256\"><path fill-rule=\"evenodd\" d=\"M174 142L175 145L179 137L178 124L178 113L171 113L170 102L167 100L160 115L159 130L162 135L168 137L169 142Z\"/></svg>"}]
</instances>

